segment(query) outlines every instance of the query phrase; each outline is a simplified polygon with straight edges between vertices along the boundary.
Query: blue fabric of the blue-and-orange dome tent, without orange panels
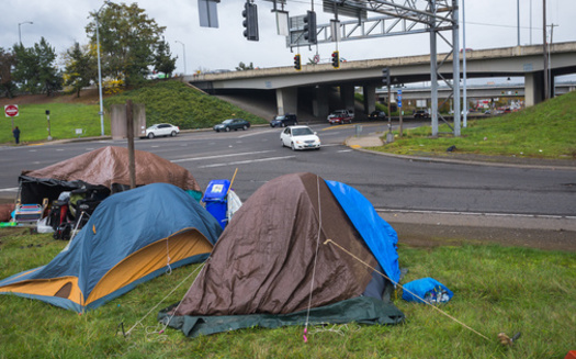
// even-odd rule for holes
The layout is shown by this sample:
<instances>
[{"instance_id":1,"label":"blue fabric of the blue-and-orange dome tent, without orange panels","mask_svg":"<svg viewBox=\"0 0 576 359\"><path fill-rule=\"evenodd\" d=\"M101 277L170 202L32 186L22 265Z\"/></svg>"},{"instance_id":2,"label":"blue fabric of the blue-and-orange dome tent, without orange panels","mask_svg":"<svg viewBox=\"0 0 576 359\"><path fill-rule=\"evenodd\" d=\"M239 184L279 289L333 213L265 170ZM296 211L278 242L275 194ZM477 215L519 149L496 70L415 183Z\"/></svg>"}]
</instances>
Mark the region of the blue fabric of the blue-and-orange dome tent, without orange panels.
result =
<instances>
[{"instance_id":1,"label":"blue fabric of the blue-and-orange dome tent, without orange panels","mask_svg":"<svg viewBox=\"0 0 576 359\"><path fill-rule=\"evenodd\" d=\"M27 280L77 278L78 288L86 300L103 277L126 257L177 233L193 229L200 232L212 245L222 233L216 220L191 195L176 186L153 183L113 194L97 207L69 248L44 267L0 281L0 294L11 293L39 299L78 312L99 306L133 289L137 283L163 273L168 267L144 278L135 278L128 285L87 306L54 293L31 295L5 291L2 287ZM160 255L169 256L169 249L165 248L165 253ZM170 268L203 261L208 255L210 250L171 262Z\"/></svg>"}]
</instances>

